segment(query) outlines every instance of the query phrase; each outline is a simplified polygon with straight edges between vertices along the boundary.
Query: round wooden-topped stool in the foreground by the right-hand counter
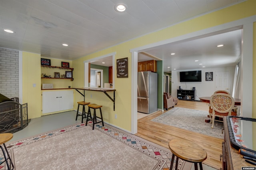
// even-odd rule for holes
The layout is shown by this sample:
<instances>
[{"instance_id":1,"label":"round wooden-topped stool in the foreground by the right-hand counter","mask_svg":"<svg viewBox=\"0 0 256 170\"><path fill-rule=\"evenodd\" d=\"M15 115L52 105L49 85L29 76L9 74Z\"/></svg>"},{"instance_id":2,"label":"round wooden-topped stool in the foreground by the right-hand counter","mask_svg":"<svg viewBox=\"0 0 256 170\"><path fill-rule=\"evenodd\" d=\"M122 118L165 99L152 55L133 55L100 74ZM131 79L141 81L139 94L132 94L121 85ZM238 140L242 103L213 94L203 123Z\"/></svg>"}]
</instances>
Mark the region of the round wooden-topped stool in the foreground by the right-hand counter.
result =
<instances>
[{"instance_id":1,"label":"round wooden-topped stool in the foreground by the right-hand counter","mask_svg":"<svg viewBox=\"0 0 256 170\"><path fill-rule=\"evenodd\" d=\"M169 149L172 152L172 161L170 170L172 170L172 166L174 163L174 157L176 156L176 164L175 170L178 168L178 159L185 160L187 162L194 163L195 170L198 170L197 163L199 163L200 170L203 169L202 162L206 160L207 153L206 151L191 141L187 141L184 139L173 139L169 142Z\"/></svg>"}]
</instances>

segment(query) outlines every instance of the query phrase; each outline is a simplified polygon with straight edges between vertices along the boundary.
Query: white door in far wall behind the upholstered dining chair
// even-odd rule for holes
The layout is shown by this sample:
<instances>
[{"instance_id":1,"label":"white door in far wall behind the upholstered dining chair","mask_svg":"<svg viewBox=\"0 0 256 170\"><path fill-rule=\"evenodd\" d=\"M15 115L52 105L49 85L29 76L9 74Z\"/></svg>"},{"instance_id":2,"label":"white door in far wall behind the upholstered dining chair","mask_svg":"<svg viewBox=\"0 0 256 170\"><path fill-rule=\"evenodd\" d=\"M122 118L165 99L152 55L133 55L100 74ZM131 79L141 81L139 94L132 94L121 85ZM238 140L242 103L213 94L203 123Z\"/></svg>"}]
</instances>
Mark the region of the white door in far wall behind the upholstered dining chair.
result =
<instances>
[{"instance_id":1,"label":"white door in far wall behind the upholstered dining chair","mask_svg":"<svg viewBox=\"0 0 256 170\"><path fill-rule=\"evenodd\" d=\"M230 93L230 71L216 71L215 91L225 90Z\"/></svg>"}]
</instances>

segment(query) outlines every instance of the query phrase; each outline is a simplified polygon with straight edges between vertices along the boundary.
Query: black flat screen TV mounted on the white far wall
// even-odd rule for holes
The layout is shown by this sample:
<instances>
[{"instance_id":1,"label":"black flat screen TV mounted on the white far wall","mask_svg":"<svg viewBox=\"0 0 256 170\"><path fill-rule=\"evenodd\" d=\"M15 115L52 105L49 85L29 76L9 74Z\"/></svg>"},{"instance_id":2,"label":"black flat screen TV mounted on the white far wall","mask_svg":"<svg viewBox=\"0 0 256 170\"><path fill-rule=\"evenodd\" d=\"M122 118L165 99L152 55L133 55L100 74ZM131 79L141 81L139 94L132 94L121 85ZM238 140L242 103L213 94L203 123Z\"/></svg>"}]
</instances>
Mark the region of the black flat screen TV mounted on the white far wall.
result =
<instances>
[{"instance_id":1,"label":"black flat screen TV mounted on the white far wall","mask_svg":"<svg viewBox=\"0 0 256 170\"><path fill-rule=\"evenodd\" d=\"M202 82L201 70L180 72L180 82Z\"/></svg>"}]
</instances>

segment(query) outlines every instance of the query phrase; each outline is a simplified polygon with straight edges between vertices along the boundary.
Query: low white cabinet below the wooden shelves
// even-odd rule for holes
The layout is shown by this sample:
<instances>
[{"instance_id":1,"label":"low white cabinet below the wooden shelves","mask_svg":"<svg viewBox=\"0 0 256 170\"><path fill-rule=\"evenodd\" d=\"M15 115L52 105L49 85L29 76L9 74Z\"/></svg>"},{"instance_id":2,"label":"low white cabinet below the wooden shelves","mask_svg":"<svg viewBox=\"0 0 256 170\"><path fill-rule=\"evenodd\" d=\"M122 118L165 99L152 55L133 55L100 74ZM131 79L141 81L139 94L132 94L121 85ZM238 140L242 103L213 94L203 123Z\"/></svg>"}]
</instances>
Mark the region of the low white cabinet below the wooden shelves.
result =
<instances>
[{"instance_id":1,"label":"low white cabinet below the wooden shelves","mask_svg":"<svg viewBox=\"0 0 256 170\"><path fill-rule=\"evenodd\" d=\"M74 108L73 90L46 90L42 92L42 113Z\"/></svg>"}]
</instances>

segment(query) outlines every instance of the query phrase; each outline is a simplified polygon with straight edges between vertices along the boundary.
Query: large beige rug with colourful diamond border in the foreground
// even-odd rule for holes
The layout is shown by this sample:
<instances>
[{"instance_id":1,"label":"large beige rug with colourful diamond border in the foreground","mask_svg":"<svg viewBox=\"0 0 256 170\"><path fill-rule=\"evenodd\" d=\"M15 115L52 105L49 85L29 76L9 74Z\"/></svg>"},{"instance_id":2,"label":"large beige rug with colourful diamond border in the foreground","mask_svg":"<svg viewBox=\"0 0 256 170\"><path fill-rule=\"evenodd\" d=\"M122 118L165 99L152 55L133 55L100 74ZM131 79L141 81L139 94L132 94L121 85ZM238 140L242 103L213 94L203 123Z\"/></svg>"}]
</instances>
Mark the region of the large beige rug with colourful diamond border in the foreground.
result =
<instances>
[{"instance_id":1,"label":"large beige rug with colourful diamond border in the foreground","mask_svg":"<svg viewBox=\"0 0 256 170\"><path fill-rule=\"evenodd\" d=\"M6 145L16 170L168 170L172 153L116 129L80 123ZM1 155L0 155L1 157ZM185 161L179 160L178 169ZM2 170L0 168L0 170Z\"/></svg>"}]
</instances>

